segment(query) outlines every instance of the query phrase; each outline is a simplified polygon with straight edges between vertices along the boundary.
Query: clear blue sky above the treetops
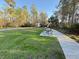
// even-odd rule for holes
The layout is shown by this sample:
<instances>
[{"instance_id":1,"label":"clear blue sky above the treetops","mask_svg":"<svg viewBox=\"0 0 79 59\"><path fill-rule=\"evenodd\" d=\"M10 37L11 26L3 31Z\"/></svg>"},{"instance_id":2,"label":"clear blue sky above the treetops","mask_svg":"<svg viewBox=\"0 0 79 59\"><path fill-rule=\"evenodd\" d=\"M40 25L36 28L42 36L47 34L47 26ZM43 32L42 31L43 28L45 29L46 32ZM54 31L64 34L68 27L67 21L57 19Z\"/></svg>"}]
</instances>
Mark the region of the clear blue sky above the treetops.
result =
<instances>
[{"instance_id":1,"label":"clear blue sky above the treetops","mask_svg":"<svg viewBox=\"0 0 79 59\"><path fill-rule=\"evenodd\" d=\"M30 11L30 8L32 4L35 4L37 10L39 12L45 11L50 17L55 10L57 10L57 6L59 3L59 0L14 0L16 2L16 7L23 7L24 5L27 6L28 10ZM4 0L0 0L0 9L5 8L7 6L6 2Z\"/></svg>"}]
</instances>

